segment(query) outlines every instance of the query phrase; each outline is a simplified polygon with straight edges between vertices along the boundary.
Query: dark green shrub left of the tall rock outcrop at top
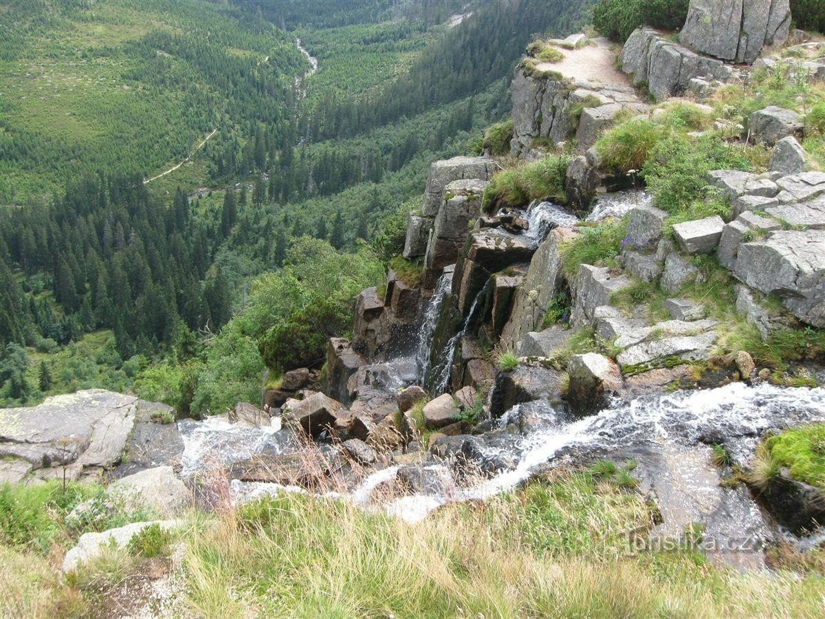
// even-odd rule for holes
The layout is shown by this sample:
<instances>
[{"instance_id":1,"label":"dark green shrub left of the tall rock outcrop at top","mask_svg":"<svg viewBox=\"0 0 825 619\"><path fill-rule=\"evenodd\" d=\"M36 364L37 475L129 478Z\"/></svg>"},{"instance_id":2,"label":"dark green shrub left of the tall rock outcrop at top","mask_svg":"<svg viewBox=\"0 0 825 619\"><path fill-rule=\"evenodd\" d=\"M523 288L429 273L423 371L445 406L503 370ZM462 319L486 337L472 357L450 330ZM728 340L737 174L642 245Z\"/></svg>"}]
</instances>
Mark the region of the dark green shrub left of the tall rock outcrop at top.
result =
<instances>
[{"instance_id":1,"label":"dark green shrub left of the tall rock outcrop at top","mask_svg":"<svg viewBox=\"0 0 825 619\"><path fill-rule=\"evenodd\" d=\"M678 30L687 18L689 0L600 0L593 7L593 26L609 39L624 43L643 24Z\"/></svg>"}]
</instances>

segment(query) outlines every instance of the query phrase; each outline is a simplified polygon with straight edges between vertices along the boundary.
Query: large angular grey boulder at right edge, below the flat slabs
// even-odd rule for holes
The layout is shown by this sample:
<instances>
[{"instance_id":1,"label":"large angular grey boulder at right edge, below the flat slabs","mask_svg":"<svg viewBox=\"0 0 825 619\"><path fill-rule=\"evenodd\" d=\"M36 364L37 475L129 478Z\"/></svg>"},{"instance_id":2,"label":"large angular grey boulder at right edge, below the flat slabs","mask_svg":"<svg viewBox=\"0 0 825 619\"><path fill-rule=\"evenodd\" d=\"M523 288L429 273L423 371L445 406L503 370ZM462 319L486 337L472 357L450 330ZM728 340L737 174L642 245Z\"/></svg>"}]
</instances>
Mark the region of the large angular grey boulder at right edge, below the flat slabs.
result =
<instances>
[{"instance_id":1,"label":"large angular grey boulder at right edge, below the flat slabs","mask_svg":"<svg viewBox=\"0 0 825 619\"><path fill-rule=\"evenodd\" d=\"M780 230L742 243L735 274L766 295L778 295L800 320L825 327L825 234Z\"/></svg>"}]
</instances>

